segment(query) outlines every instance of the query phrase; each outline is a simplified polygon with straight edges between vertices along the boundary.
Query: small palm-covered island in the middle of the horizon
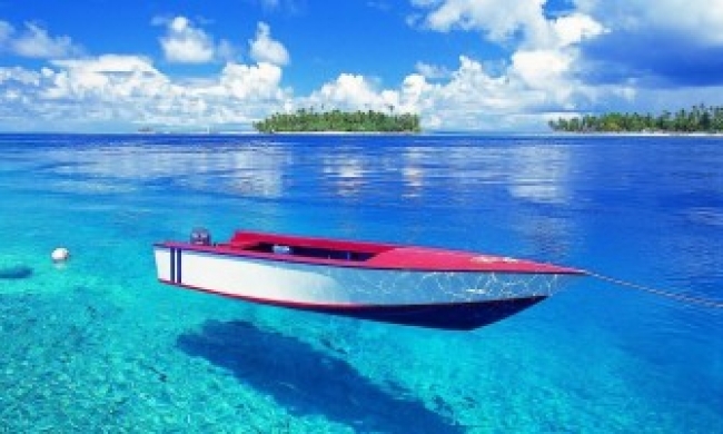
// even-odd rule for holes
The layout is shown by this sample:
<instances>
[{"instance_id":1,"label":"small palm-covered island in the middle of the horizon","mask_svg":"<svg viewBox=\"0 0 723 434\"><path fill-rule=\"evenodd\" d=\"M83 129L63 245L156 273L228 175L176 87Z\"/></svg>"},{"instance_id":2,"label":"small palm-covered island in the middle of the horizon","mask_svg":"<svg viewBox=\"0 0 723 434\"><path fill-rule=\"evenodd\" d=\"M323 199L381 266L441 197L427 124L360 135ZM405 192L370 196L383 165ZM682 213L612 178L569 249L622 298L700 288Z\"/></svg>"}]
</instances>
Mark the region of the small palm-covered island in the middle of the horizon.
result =
<instances>
[{"instance_id":1,"label":"small palm-covered island in the middle of the horizon","mask_svg":"<svg viewBox=\"0 0 723 434\"><path fill-rule=\"evenodd\" d=\"M315 111L274 114L252 124L259 132L420 132L419 116L382 111Z\"/></svg>"}]
</instances>

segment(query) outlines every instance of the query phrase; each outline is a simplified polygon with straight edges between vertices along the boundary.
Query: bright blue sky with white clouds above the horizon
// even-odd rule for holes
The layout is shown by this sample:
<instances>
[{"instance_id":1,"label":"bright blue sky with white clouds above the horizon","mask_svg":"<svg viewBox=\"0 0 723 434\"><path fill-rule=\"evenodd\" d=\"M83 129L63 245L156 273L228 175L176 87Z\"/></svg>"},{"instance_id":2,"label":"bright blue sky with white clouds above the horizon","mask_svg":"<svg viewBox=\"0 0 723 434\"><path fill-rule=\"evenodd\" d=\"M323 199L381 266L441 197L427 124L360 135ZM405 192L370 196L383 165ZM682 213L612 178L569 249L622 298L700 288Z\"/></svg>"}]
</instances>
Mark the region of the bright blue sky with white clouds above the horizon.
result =
<instances>
[{"instance_id":1,"label":"bright blue sky with white clouds above the horizon","mask_svg":"<svg viewBox=\"0 0 723 434\"><path fill-rule=\"evenodd\" d=\"M723 105L723 0L0 0L0 131L427 131Z\"/></svg>"}]
</instances>

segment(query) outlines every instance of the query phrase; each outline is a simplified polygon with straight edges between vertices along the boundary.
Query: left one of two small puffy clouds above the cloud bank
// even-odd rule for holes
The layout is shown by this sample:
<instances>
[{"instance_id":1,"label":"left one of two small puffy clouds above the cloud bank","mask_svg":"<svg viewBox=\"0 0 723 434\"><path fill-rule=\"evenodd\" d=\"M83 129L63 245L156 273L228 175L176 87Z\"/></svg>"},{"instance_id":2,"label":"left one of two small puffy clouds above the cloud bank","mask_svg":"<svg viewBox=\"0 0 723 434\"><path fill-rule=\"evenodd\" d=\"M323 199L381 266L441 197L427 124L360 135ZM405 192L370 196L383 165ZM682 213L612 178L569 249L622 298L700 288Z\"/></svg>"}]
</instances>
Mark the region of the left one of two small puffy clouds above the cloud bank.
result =
<instances>
[{"instance_id":1,"label":"left one of two small puffy clouds above the cloud bank","mask_svg":"<svg viewBox=\"0 0 723 434\"><path fill-rule=\"evenodd\" d=\"M194 27L186 17L175 17L171 20L155 19L155 23L166 24L166 36L160 45L166 60L178 63L206 63L214 59L214 40L202 29Z\"/></svg>"}]
</instances>

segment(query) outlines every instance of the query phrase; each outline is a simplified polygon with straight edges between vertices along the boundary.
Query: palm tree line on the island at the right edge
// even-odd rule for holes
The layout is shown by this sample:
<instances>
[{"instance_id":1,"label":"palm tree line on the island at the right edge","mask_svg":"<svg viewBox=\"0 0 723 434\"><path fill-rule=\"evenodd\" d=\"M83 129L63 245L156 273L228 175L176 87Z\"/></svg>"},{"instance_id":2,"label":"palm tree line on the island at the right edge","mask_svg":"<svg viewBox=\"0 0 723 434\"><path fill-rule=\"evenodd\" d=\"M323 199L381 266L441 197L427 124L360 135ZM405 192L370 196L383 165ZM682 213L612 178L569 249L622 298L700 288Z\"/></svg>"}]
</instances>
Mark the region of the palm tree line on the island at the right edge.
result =
<instances>
[{"instance_id":1,"label":"palm tree line on the island at the right edge","mask_svg":"<svg viewBox=\"0 0 723 434\"><path fill-rule=\"evenodd\" d=\"M651 114L610 112L547 122L555 131L568 132L723 132L723 107L693 106L690 110Z\"/></svg>"}]
</instances>

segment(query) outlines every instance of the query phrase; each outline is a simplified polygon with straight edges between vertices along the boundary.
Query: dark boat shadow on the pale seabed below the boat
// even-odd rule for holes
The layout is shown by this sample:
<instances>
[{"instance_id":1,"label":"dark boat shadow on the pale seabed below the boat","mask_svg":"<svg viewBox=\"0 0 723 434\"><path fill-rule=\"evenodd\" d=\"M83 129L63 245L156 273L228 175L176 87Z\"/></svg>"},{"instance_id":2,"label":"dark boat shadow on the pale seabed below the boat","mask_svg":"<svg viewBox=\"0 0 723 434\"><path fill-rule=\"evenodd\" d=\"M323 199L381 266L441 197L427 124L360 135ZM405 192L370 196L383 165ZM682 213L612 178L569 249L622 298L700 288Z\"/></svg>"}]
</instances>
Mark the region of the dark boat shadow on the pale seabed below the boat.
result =
<instances>
[{"instance_id":1,"label":"dark boat shadow on the pale seabed below the boat","mask_svg":"<svg viewBox=\"0 0 723 434\"><path fill-rule=\"evenodd\" d=\"M360 432L462 433L395 384L380 386L341 358L248 322L207 320L178 347L229 369L295 415L320 414Z\"/></svg>"}]
</instances>

